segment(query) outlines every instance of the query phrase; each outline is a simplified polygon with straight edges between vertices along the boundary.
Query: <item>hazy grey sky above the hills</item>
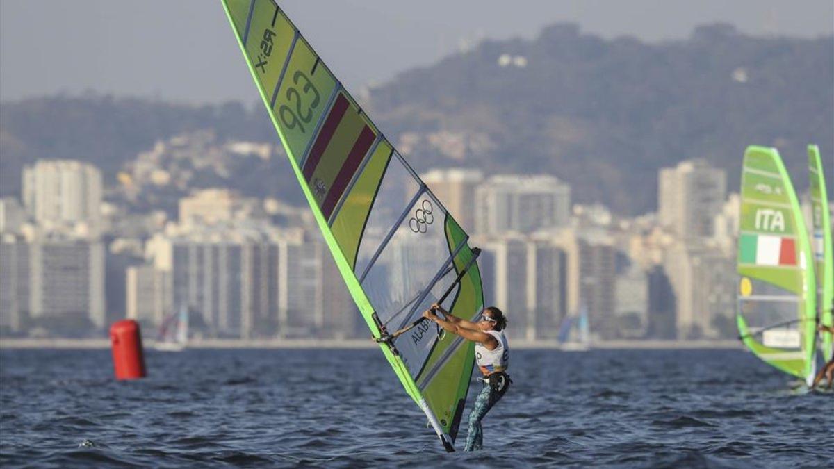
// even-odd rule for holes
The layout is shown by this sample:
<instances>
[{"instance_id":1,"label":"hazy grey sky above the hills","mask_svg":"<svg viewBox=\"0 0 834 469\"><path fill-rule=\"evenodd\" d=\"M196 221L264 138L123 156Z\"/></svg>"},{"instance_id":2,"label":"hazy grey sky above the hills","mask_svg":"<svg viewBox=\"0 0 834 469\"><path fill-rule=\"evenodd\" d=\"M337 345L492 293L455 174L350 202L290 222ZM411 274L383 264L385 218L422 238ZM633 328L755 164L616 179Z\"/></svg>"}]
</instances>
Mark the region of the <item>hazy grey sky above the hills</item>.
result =
<instances>
[{"instance_id":1,"label":"hazy grey sky above the hills","mask_svg":"<svg viewBox=\"0 0 834 469\"><path fill-rule=\"evenodd\" d=\"M279 2L355 90L479 38L534 38L572 21L606 38L686 38L722 21L814 37L831 0L287 0ZM113 93L191 103L258 96L219 0L0 0L0 100Z\"/></svg>"}]
</instances>

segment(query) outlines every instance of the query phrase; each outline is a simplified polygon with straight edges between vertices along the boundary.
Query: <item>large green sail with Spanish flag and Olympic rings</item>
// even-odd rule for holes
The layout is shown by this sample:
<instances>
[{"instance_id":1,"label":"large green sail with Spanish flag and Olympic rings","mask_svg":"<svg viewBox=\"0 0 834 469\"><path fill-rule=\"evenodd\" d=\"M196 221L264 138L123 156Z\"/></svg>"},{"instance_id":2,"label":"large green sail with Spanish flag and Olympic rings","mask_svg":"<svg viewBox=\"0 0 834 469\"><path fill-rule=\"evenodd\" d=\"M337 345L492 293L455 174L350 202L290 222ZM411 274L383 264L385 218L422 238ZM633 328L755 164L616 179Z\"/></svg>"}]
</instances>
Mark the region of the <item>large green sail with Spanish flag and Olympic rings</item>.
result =
<instances>
[{"instance_id":1,"label":"large green sail with Spanish flag and Olympic rings","mask_svg":"<svg viewBox=\"0 0 834 469\"><path fill-rule=\"evenodd\" d=\"M443 306L484 308L469 236L342 87L273 0L222 0L289 163L372 335ZM473 346L424 322L380 344L448 451L464 410Z\"/></svg>"}]
</instances>

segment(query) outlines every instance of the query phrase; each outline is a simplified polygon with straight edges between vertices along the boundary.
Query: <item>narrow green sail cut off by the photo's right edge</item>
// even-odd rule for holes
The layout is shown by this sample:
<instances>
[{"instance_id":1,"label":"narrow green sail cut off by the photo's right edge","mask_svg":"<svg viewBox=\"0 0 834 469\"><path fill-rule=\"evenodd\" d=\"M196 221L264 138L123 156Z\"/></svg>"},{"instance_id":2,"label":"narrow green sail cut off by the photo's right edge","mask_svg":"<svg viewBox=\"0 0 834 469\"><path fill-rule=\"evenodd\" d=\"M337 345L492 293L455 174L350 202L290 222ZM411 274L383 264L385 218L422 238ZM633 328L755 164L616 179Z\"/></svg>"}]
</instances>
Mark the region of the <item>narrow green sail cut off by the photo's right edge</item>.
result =
<instances>
[{"instance_id":1,"label":"narrow green sail cut off by the photo's right edge","mask_svg":"<svg viewBox=\"0 0 834 469\"><path fill-rule=\"evenodd\" d=\"M831 212L828 209L826 179L822 173L820 149L808 145L808 171L811 176L811 234L816 272L816 299L818 319L831 325L831 308L834 307L834 253L831 252ZM822 356L831 360L834 344L831 332L821 334Z\"/></svg>"}]
</instances>

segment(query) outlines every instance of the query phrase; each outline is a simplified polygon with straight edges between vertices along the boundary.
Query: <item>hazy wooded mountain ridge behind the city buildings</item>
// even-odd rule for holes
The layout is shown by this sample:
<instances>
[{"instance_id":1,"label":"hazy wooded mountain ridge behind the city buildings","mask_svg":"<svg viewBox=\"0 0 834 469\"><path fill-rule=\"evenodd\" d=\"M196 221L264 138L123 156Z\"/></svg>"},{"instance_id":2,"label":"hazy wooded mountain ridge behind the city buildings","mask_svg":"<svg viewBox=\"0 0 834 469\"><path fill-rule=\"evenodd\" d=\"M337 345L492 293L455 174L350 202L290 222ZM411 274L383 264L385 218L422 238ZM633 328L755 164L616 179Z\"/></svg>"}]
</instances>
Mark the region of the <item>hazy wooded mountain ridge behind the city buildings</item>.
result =
<instances>
[{"instance_id":1,"label":"hazy wooded mountain ridge behind the city buildings","mask_svg":"<svg viewBox=\"0 0 834 469\"><path fill-rule=\"evenodd\" d=\"M778 147L806 189L805 145L819 144L828 161L834 149L832 82L832 36L759 38L716 23L686 40L643 43L558 23L532 40L485 41L400 73L361 100L418 172L550 173L575 202L641 214L656 209L657 170L683 159L726 169L737 189L748 144ZM261 105L98 95L3 103L0 194L19 195L23 165L38 158L89 161L115 184L154 142L203 129L278 144ZM301 203L289 164L267 168L273 174L255 184L241 174L234 189Z\"/></svg>"}]
</instances>

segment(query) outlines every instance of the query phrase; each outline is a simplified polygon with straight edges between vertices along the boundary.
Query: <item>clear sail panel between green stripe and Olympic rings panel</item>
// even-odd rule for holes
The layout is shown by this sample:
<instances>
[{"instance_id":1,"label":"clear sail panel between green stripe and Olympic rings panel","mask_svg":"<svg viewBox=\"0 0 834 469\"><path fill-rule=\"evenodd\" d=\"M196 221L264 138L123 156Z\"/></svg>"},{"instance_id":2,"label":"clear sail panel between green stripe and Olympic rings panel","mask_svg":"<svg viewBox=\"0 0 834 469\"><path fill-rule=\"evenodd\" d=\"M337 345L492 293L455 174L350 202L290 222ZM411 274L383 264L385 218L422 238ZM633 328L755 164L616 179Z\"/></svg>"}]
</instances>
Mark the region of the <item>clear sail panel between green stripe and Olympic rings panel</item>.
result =
<instances>
[{"instance_id":1,"label":"clear sail panel between green stripe and Olympic rings panel","mask_svg":"<svg viewBox=\"0 0 834 469\"><path fill-rule=\"evenodd\" d=\"M409 202L421 190L422 187L404 164L391 157L379 184L367 223L364 225L362 239L359 241L359 253L354 267L357 277L362 277L394 226L399 227L401 216L408 215L406 210L411 209ZM409 215L404 217L405 221L408 219Z\"/></svg>"}]
</instances>

